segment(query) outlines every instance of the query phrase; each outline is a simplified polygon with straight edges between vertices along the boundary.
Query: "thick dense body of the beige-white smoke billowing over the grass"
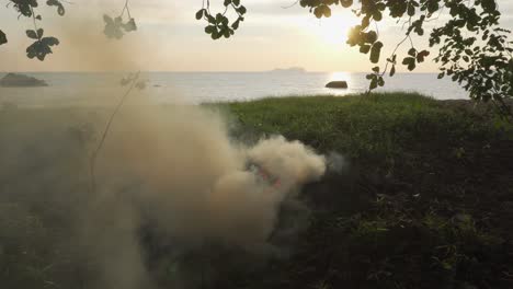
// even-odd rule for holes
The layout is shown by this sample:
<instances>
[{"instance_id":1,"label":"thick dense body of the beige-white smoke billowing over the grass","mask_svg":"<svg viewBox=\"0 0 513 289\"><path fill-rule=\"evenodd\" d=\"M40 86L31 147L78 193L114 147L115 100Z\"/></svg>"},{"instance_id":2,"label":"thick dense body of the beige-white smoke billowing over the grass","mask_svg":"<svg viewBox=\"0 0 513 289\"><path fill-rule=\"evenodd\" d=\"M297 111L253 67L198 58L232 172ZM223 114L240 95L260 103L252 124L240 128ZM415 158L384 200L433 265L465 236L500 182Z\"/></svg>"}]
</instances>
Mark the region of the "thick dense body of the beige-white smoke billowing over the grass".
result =
<instances>
[{"instance_id":1,"label":"thick dense body of the beige-white smoke billowing over the grass","mask_svg":"<svg viewBox=\"0 0 513 289\"><path fill-rule=\"evenodd\" d=\"M249 170L249 163L276 182ZM326 160L283 137L239 144L218 114L168 106L119 115L99 166L106 192L116 175L140 182L136 198L163 233L248 245L266 241L281 203L322 176Z\"/></svg>"}]
</instances>

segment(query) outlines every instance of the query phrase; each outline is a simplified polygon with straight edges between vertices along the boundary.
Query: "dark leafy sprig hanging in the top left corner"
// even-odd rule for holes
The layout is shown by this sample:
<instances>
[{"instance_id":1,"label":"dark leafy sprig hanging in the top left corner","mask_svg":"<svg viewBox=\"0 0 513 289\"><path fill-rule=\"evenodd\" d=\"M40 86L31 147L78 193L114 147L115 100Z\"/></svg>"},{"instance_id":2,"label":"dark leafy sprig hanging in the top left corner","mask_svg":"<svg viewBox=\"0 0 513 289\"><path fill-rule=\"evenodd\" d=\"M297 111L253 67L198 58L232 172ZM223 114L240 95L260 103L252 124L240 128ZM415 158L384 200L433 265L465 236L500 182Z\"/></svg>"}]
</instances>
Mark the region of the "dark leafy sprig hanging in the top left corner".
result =
<instances>
[{"instance_id":1,"label":"dark leafy sprig hanging in the top left corner","mask_svg":"<svg viewBox=\"0 0 513 289\"><path fill-rule=\"evenodd\" d=\"M42 15L36 13L39 4L37 0L9 0L8 7L12 5L19 13L19 18L25 16L32 19L33 30L27 30L26 36L34 39L34 43L26 48L26 56L29 58L37 58L38 60L45 60L48 54L52 54L52 47L59 45L59 41L56 37L48 36L43 37L44 30L39 28L37 23L43 20ZM59 0L47 0L46 5L56 7L57 13L62 16L66 13L65 7ZM5 34L0 31L0 45L8 43Z\"/></svg>"}]
</instances>

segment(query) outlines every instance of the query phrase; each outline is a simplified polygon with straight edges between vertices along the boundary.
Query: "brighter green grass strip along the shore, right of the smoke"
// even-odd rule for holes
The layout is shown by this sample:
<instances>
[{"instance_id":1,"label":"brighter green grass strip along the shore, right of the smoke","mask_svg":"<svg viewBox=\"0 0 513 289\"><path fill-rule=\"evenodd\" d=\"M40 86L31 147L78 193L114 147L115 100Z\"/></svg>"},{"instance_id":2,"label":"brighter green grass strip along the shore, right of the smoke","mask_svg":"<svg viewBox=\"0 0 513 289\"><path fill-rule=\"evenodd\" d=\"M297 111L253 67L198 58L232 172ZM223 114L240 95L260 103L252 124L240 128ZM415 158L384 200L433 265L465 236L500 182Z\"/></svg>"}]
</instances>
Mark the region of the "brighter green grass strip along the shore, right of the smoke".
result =
<instances>
[{"instance_id":1,"label":"brighter green grass strip along the shore, right of the smoke","mask_svg":"<svg viewBox=\"0 0 513 289\"><path fill-rule=\"evenodd\" d=\"M495 132L488 122L476 122L464 112L410 93L375 94L372 99L266 99L231 103L229 111L244 130L282 134L320 151L337 150L353 158L383 159L409 146L431 146L440 138L457 144L457 140Z\"/></svg>"}]
</instances>

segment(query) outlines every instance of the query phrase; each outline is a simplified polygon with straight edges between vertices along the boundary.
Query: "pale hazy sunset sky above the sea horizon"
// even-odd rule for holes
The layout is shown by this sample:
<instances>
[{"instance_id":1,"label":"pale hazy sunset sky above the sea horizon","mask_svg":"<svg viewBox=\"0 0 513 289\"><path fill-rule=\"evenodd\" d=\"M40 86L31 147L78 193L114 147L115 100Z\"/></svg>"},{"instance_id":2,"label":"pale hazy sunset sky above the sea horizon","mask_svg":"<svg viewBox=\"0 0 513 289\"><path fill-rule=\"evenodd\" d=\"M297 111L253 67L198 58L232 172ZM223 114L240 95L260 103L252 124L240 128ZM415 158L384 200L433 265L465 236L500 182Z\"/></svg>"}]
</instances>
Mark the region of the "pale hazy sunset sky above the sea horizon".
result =
<instances>
[{"instance_id":1,"label":"pale hazy sunset sky above the sea horizon","mask_svg":"<svg viewBox=\"0 0 513 289\"><path fill-rule=\"evenodd\" d=\"M41 62L27 59L24 53L31 44L25 30L33 27L32 21L18 19L12 8L3 8L8 1L0 0L0 28L9 38L0 46L0 71L265 71L287 67L308 71L371 70L374 65L368 56L345 44L347 28L358 23L351 11L335 9L331 19L318 20L299 5L284 8L294 1L242 0L248 8L246 21L233 37L220 41L212 41L203 31L205 22L194 18L202 0L130 0L138 31L121 41L103 36L102 15L119 14L125 0L73 0L65 4L64 18L42 7L39 25L61 43ZM213 11L221 10L223 0L210 2ZM502 26L513 28L513 1L498 2ZM384 22L379 34L387 55L403 32L398 24ZM425 37L414 42L428 47ZM433 72L436 68L428 60L417 72Z\"/></svg>"}]
</instances>

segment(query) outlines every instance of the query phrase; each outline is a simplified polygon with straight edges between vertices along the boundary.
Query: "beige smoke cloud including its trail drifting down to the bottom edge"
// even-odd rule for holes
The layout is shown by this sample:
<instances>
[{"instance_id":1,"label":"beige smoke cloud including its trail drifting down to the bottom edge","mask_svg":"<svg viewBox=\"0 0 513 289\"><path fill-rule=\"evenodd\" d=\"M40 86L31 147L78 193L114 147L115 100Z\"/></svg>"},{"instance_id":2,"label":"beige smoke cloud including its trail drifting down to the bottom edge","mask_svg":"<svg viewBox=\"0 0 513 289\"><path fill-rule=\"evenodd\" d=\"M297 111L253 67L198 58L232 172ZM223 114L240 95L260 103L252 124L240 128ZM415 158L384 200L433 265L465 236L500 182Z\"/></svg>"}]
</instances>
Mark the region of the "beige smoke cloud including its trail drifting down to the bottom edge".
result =
<instances>
[{"instance_id":1,"label":"beige smoke cloud including its trail drifting down to the bottom edge","mask_svg":"<svg viewBox=\"0 0 513 289\"><path fill-rule=\"evenodd\" d=\"M102 284L141 288L151 279L141 228L174 252L215 243L262 253L282 205L326 170L324 157L282 136L242 144L202 106L128 105L99 155L78 235L94 240L86 251L101 256Z\"/></svg>"}]
</instances>

